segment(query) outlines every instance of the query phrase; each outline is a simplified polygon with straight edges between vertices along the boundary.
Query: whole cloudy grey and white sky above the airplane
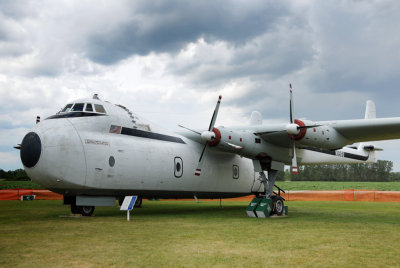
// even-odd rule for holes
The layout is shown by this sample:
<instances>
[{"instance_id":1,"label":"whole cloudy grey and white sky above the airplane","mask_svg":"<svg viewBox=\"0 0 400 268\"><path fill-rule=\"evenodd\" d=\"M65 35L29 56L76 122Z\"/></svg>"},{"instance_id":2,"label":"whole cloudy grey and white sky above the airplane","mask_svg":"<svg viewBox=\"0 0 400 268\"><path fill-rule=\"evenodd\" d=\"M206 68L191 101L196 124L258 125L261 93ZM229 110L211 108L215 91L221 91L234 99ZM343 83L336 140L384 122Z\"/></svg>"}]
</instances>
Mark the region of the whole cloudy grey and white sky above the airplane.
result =
<instances>
[{"instance_id":1,"label":"whole cloudy grey and white sky above the airplane","mask_svg":"<svg viewBox=\"0 0 400 268\"><path fill-rule=\"evenodd\" d=\"M0 1L0 168L67 102L99 94L169 130L400 116L399 1ZM400 141L380 142L400 171Z\"/></svg>"}]
</instances>

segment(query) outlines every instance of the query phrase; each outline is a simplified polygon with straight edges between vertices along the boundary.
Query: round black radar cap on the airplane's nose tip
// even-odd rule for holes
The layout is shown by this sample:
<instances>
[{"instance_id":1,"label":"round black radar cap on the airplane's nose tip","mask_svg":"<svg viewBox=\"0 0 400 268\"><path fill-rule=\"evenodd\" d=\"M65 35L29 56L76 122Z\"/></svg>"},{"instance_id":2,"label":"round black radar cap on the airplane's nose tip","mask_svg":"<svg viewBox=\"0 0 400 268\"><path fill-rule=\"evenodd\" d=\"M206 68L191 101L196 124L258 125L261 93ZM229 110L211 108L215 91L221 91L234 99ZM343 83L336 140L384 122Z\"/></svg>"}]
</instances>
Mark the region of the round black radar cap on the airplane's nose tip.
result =
<instances>
[{"instance_id":1,"label":"round black radar cap on the airplane's nose tip","mask_svg":"<svg viewBox=\"0 0 400 268\"><path fill-rule=\"evenodd\" d=\"M24 166L34 167L39 161L42 153L42 142L39 135L35 132L29 132L25 135L21 143L21 161Z\"/></svg>"}]
</instances>

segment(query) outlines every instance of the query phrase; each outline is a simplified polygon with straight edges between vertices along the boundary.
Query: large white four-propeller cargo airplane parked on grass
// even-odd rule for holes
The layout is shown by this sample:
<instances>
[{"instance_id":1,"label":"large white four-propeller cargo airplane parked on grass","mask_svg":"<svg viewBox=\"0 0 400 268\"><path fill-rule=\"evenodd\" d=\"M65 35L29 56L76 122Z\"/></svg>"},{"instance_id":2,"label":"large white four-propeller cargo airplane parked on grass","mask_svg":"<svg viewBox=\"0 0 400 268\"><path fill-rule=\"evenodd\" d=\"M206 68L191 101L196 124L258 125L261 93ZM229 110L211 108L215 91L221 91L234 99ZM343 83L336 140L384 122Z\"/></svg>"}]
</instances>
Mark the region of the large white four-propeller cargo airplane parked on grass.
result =
<instances>
[{"instance_id":1,"label":"large white four-propeller cargo airplane parked on grass","mask_svg":"<svg viewBox=\"0 0 400 268\"><path fill-rule=\"evenodd\" d=\"M376 118L367 101L364 119L314 122L295 119L290 85L288 122L215 127L219 96L207 129L168 132L122 105L93 98L68 102L25 135L20 157L28 176L62 194L73 214L143 198L233 198L254 194L273 200L278 171L297 166L376 162L373 141L399 139L400 117Z\"/></svg>"}]
</instances>

